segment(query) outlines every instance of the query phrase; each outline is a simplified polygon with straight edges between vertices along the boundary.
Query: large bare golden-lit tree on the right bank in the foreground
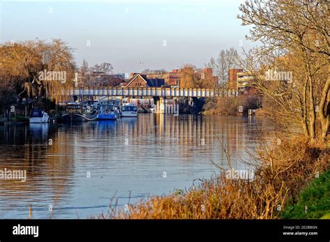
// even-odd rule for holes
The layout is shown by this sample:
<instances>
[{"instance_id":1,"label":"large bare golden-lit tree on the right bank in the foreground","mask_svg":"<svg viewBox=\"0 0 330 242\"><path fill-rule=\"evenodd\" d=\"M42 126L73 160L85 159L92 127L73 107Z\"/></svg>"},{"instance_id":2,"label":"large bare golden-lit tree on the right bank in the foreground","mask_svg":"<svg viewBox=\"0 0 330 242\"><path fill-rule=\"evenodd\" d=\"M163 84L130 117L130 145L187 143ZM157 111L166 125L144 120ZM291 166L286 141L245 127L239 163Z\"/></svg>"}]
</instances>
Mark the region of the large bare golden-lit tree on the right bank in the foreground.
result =
<instances>
[{"instance_id":1,"label":"large bare golden-lit tree on the right bank in the foreground","mask_svg":"<svg viewBox=\"0 0 330 242\"><path fill-rule=\"evenodd\" d=\"M262 43L241 64L256 76L256 87L272 104L271 113L293 124L298 120L312 141L326 139L330 118L326 1L245 1L239 10L243 25L253 26L248 38ZM293 72L292 83L265 81L271 68Z\"/></svg>"}]
</instances>

